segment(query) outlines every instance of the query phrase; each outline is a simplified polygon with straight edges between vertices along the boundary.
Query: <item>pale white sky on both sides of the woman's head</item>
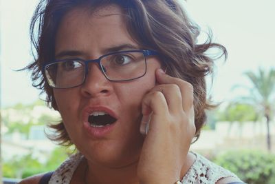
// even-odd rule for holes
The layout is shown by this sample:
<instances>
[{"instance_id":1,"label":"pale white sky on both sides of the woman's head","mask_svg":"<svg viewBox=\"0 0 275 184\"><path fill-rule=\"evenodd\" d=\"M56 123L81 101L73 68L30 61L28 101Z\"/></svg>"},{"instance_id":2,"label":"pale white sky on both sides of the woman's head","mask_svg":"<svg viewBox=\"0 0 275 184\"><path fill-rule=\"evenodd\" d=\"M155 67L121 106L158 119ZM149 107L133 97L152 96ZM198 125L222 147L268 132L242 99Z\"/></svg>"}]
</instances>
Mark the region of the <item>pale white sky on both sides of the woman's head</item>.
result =
<instances>
[{"instance_id":1,"label":"pale white sky on both sides of the woman's head","mask_svg":"<svg viewBox=\"0 0 275 184\"><path fill-rule=\"evenodd\" d=\"M37 3L37 0L0 0L1 108L39 99L30 73L14 71L32 61L29 27ZM275 68L274 0L188 0L184 7L202 30L210 28L213 40L228 50L228 60L217 61L209 90L214 101L230 101L243 95L244 92L232 87L250 85L245 71Z\"/></svg>"}]
</instances>

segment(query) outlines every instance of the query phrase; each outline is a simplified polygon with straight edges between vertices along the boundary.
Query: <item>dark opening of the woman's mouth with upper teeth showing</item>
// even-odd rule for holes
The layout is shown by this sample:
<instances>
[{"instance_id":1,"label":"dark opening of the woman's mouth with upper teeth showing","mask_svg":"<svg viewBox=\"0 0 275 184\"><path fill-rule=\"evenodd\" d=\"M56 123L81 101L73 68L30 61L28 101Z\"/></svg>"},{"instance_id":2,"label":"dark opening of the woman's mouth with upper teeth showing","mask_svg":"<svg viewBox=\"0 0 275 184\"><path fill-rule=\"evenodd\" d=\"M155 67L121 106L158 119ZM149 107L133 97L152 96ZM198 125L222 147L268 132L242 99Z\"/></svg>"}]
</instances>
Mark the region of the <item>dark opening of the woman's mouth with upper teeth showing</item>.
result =
<instances>
[{"instance_id":1,"label":"dark opening of the woman's mouth with upper teeth showing","mask_svg":"<svg viewBox=\"0 0 275 184\"><path fill-rule=\"evenodd\" d=\"M89 114L88 121L91 127L104 127L115 123L117 119L107 112L92 112Z\"/></svg>"}]
</instances>

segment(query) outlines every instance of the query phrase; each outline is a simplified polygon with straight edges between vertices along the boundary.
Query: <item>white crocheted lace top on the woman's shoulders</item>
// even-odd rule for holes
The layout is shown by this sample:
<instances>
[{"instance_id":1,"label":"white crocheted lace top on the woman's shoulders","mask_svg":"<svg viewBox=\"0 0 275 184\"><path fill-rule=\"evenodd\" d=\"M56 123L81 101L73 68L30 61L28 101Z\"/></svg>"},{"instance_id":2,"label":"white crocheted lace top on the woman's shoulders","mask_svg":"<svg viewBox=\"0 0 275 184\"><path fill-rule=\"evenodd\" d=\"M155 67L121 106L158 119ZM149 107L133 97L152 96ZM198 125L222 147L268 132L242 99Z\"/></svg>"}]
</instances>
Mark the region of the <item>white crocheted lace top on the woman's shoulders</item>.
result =
<instances>
[{"instance_id":1,"label":"white crocheted lace top on the woman's shoulders","mask_svg":"<svg viewBox=\"0 0 275 184\"><path fill-rule=\"evenodd\" d=\"M195 162L189 168L188 172L181 179L181 183L188 184L214 184L219 179L232 176L238 178L232 172L225 170L223 167L216 165L200 154L194 153ZM80 153L70 156L60 167L52 174L50 184L69 184L80 161L84 156ZM239 179L239 178L238 178Z\"/></svg>"}]
</instances>

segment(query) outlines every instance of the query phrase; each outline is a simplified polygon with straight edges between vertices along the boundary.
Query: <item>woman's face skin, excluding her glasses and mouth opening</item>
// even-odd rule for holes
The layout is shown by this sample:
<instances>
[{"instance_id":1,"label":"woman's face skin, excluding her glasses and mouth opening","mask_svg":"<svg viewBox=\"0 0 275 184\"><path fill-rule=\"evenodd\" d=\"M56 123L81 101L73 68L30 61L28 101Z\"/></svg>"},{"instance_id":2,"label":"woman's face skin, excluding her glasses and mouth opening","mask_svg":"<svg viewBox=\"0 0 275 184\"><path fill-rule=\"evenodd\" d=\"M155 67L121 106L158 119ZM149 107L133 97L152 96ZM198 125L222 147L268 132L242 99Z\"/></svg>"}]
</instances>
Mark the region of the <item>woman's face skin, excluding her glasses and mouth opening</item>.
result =
<instances>
[{"instance_id":1,"label":"woman's face skin, excluding her glasses and mouth opening","mask_svg":"<svg viewBox=\"0 0 275 184\"><path fill-rule=\"evenodd\" d=\"M108 6L94 14L76 8L63 17L56 35L56 59L98 59L115 48L140 49L126 30L120 8ZM143 143L142 98L155 86L155 70L161 68L156 57L146 61L147 72L140 79L109 81L97 63L90 63L83 85L54 90L69 137L89 161L110 167L137 161ZM116 121L106 127L91 127L88 116L93 112L107 112Z\"/></svg>"}]
</instances>

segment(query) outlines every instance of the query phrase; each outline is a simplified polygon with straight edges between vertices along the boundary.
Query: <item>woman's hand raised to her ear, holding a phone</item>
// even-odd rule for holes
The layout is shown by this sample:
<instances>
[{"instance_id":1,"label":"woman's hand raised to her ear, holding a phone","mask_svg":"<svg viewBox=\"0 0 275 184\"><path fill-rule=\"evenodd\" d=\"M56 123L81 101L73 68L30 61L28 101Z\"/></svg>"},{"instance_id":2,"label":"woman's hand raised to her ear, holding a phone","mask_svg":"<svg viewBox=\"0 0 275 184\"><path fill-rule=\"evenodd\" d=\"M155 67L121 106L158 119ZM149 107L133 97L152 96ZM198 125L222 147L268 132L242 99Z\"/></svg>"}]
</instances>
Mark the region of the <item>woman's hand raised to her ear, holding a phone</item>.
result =
<instances>
[{"instance_id":1,"label":"woman's hand raised to her ear, holding a phone","mask_svg":"<svg viewBox=\"0 0 275 184\"><path fill-rule=\"evenodd\" d=\"M142 100L142 121L151 116L137 167L142 184L177 181L196 130L192 85L161 69L156 78L159 85Z\"/></svg>"}]
</instances>

